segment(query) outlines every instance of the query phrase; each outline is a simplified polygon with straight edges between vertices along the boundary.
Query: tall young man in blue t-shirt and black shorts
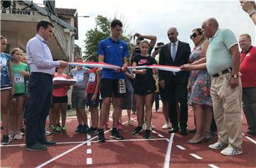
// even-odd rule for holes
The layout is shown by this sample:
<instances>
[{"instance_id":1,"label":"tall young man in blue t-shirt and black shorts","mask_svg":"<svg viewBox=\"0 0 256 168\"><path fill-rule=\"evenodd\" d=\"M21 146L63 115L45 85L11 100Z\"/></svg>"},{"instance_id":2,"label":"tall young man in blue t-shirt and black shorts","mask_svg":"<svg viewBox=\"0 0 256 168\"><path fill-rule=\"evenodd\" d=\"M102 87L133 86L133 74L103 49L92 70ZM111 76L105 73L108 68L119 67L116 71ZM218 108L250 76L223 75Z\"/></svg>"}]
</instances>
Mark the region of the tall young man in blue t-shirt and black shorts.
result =
<instances>
[{"instance_id":1,"label":"tall young man in blue t-shirt and black shorts","mask_svg":"<svg viewBox=\"0 0 256 168\"><path fill-rule=\"evenodd\" d=\"M127 70L127 57L129 57L128 45L123 40L119 40L122 33L122 22L114 19L111 22L111 36L100 41L97 47L99 62L105 62L112 65L122 67L120 69L105 69L102 70L102 80L100 84L100 93L103 99L102 111L100 113L100 129L97 140L105 142L103 131L103 123L105 121L105 113L110 110L111 98L113 99L113 129L110 135L111 138L122 140L117 130L119 111L121 109L122 97L127 95L124 84L124 71Z\"/></svg>"}]
</instances>

